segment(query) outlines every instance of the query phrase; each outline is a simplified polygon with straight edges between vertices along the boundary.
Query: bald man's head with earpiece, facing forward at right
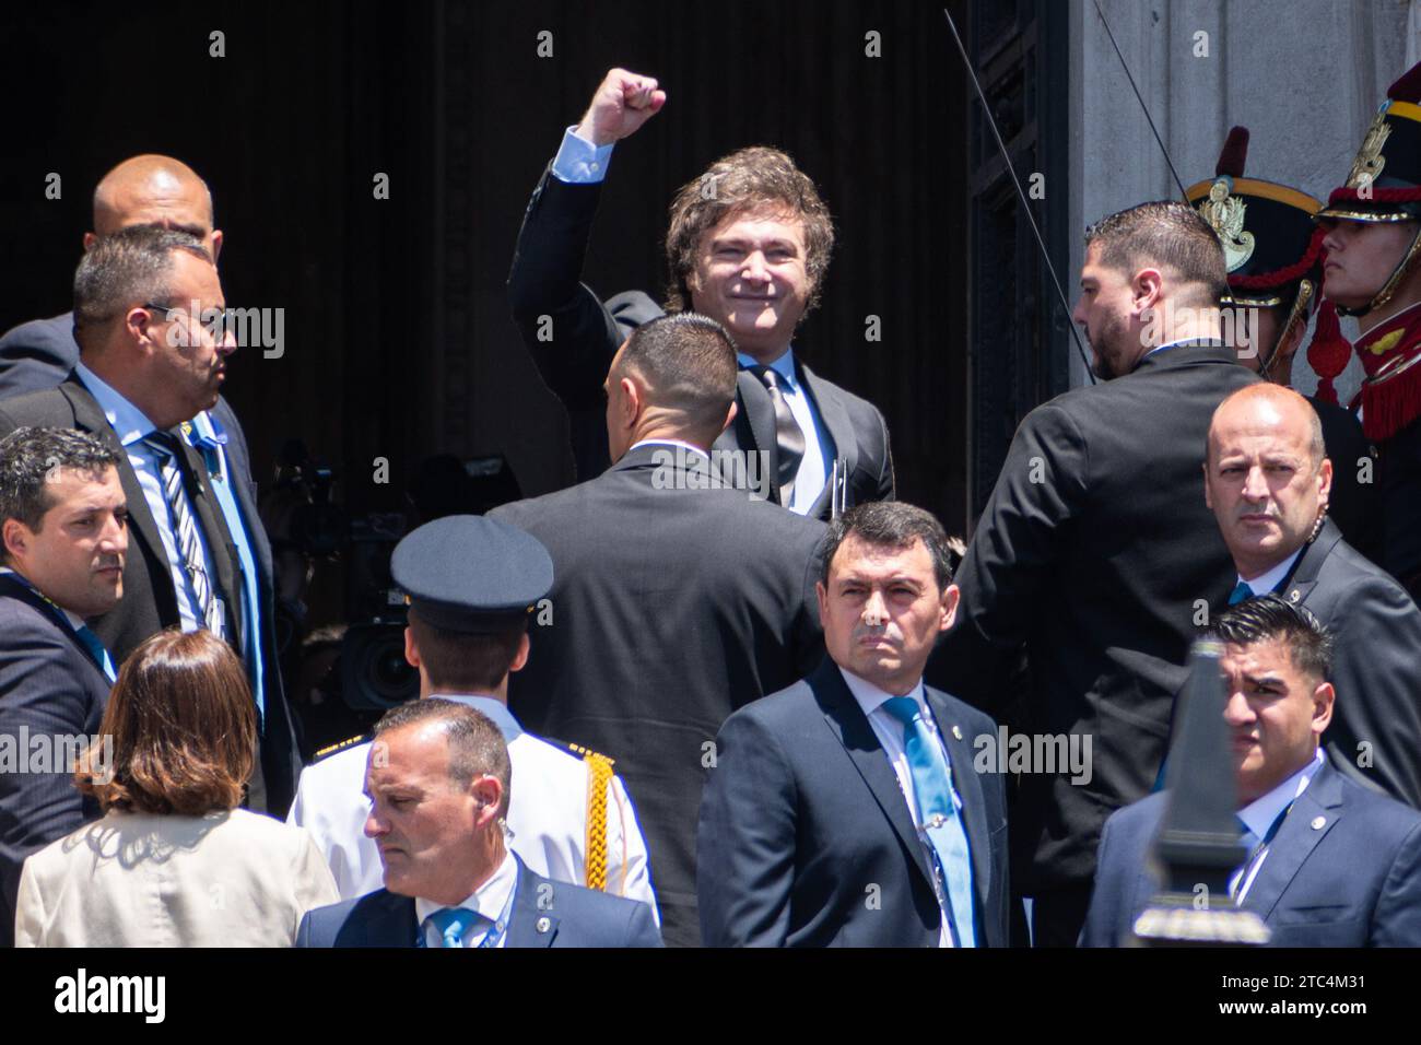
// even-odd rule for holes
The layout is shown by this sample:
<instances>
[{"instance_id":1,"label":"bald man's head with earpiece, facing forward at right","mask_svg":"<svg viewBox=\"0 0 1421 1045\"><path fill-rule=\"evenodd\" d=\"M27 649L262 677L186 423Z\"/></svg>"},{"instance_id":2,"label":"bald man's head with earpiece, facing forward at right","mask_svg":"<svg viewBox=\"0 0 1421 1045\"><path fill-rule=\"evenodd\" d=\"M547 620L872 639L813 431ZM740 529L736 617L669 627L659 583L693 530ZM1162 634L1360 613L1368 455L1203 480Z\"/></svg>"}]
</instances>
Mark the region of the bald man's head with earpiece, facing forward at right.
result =
<instances>
[{"instance_id":1,"label":"bald man's head with earpiece, facing forward at right","mask_svg":"<svg viewBox=\"0 0 1421 1045\"><path fill-rule=\"evenodd\" d=\"M1292 388L1260 381L1214 411L1204 499L1243 580L1263 576L1317 533L1331 493L1326 454L1317 411Z\"/></svg>"}]
</instances>

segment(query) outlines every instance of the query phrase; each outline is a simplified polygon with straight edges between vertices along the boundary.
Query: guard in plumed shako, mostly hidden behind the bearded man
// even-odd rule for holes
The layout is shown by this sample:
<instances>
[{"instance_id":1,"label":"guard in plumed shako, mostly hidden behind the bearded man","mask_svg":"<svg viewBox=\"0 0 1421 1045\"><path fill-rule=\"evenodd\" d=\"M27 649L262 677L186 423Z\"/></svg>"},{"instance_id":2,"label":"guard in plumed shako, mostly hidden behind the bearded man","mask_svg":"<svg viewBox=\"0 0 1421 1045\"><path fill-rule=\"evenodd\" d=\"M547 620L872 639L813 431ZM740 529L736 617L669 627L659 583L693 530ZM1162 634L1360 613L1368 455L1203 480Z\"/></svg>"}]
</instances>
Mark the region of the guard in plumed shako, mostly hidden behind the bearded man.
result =
<instances>
[{"instance_id":1,"label":"guard in plumed shako, mostly hidden behind the bearded man","mask_svg":"<svg viewBox=\"0 0 1421 1045\"><path fill-rule=\"evenodd\" d=\"M1337 405L1333 380L1347 367L1351 345L1341 336L1337 313L1320 293L1326 235L1313 222L1322 200L1292 186L1245 178L1249 132L1235 127L1219 154L1214 178L1191 185L1185 196L1218 233L1229 270L1223 297L1225 336L1232 328L1239 361L1265 381L1292 384L1293 357L1307 333L1307 363L1317 373L1317 394L1306 397L1323 424L1323 442L1333 462L1327 515L1347 543L1370 559L1378 554L1380 512L1376 496L1376 451L1356 415Z\"/></svg>"}]
</instances>

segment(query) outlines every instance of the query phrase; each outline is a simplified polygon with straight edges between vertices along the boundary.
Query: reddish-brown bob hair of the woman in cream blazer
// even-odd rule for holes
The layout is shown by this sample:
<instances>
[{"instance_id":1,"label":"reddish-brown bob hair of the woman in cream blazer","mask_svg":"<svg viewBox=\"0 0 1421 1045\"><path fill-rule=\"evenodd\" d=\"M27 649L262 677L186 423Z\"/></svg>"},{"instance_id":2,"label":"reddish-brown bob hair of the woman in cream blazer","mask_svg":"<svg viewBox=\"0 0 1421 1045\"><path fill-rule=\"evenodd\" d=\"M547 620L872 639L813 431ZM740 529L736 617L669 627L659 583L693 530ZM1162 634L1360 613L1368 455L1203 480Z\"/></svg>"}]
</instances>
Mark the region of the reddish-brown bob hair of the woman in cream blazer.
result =
<instances>
[{"instance_id":1,"label":"reddish-brown bob hair of the woman in cream blazer","mask_svg":"<svg viewBox=\"0 0 1421 1045\"><path fill-rule=\"evenodd\" d=\"M144 640L118 671L99 734L114 738L112 778L101 776L91 749L74 779L105 812L236 809L256 766L246 671L210 631L169 628Z\"/></svg>"}]
</instances>

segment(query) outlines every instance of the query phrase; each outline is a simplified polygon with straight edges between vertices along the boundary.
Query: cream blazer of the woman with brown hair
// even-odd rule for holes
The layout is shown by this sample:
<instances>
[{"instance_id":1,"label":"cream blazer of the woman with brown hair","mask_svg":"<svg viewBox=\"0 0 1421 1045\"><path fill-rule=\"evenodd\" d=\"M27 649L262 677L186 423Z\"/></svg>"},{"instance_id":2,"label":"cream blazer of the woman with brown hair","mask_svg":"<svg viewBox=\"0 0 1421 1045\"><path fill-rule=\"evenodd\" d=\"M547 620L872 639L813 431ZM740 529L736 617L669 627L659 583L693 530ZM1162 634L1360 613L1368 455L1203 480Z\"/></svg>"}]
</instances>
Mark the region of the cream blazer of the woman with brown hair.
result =
<instances>
[{"instance_id":1,"label":"cream blazer of the woman with brown hair","mask_svg":"<svg viewBox=\"0 0 1421 1045\"><path fill-rule=\"evenodd\" d=\"M310 835L233 809L109 810L24 862L16 947L290 947L340 894Z\"/></svg>"}]
</instances>

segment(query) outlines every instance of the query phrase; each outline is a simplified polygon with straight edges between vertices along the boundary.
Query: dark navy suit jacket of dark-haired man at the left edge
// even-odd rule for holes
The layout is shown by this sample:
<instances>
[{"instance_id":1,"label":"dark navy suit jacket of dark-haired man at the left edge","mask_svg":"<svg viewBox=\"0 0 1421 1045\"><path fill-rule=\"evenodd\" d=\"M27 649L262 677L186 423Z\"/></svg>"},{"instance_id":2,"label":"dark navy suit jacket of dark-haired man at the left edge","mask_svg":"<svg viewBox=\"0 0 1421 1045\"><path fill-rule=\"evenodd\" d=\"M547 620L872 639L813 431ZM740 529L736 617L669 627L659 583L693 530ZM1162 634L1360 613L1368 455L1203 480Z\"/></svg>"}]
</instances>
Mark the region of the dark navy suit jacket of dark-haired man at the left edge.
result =
<instances>
[{"instance_id":1,"label":"dark navy suit jacket of dark-haired man at the left edge","mask_svg":"<svg viewBox=\"0 0 1421 1045\"><path fill-rule=\"evenodd\" d=\"M97 736L108 680L54 610L0 574L0 736L26 759L23 736ZM24 731L24 732L21 732ZM67 746L50 772L0 769L0 945L14 943L20 869L31 853L99 818L98 803L74 786ZM38 768L38 766L34 766Z\"/></svg>"}]
</instances>

